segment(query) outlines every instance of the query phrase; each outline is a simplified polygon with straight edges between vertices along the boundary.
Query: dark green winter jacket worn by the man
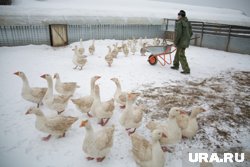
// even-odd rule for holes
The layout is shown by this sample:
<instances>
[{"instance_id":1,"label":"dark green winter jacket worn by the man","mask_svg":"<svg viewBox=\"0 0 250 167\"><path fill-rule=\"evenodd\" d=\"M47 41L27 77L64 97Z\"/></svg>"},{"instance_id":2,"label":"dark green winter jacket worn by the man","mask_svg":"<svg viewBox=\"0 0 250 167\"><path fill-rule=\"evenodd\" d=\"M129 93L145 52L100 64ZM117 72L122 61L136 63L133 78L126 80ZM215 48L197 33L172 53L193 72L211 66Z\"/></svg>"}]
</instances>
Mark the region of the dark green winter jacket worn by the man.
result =
<instances>
[{"instance_id":1,"label":"dark green winter jacket worn by the man","mask_svg":"<svg viewBox=\"0 0 250 167\"><path fill-rule=\"evenodd\" d=\"M183 17L175 24L174 44L180 48L187 48L193 35L192 26L187 17Z\"/></svg>"}]
</instances>

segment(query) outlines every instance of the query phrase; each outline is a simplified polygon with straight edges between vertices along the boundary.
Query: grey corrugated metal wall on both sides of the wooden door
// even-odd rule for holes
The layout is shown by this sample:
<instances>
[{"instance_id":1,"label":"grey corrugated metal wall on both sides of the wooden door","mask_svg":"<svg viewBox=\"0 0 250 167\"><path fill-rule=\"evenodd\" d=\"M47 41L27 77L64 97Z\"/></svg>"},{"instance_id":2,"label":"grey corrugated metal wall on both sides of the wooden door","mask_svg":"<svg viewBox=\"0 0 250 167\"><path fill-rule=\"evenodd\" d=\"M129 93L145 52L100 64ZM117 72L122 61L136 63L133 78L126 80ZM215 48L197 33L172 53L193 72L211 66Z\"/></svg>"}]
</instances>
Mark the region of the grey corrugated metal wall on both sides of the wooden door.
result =
<instances>
[{"instance_id":1,"label":"grey corrugated metal wall on both sides of the wooden door","mask_svg":"<svg viewBox=\"0 0 250 167\"><path fill-rule=\"evenodd\" d=\"M68 25L68 43L89 39L125 40L132 37L162 37L162 25ZM50 45L49 26L0 26L0 46Z\"/></svg>"}]
</instances>

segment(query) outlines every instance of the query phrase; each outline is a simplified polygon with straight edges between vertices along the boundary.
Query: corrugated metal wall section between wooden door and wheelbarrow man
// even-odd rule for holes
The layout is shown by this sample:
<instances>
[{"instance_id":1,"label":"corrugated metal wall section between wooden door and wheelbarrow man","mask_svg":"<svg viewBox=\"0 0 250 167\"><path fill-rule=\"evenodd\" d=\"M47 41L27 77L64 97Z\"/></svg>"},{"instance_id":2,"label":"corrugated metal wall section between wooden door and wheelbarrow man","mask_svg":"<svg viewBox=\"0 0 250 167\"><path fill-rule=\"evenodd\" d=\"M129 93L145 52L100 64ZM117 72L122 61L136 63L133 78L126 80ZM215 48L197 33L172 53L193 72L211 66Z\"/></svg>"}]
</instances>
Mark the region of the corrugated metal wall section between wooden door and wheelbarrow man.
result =
<instances>
[{"instance_id":1,"label":"corrugated metal wall section between wooden door and wheelbarrow man","mask_svg":"<svg viewBox=\"0 0 250 167\"><path fill-rule=\"evenodd\" d=\"M161 25L68 25L69 43L79 41L79 38L125 40L132 37L162 37L163 34Z\"/></svg>"}]
</instances>

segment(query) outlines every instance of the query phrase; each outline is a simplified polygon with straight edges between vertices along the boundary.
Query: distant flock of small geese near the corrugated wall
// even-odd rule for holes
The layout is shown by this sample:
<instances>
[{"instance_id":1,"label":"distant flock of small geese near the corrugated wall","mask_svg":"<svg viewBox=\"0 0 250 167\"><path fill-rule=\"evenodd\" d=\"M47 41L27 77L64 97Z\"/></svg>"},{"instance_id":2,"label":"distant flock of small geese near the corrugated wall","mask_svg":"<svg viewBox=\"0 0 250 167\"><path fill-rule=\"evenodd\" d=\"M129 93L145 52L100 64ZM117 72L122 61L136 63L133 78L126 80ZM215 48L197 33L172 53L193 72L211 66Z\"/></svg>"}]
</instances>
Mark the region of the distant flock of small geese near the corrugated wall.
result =
<instances>
[{"instance_id":1,"label":"distant flock of small geese near the corrugated wall","mask_svg":"<svg viewBox=\"0 0 250 167\"><path fill-rule=\"evenodd\" d=\"M118 43L113 44L113 48L111 46L107 46L108 53L105 56L105 61L108 64L109 67L112 66L114 59L117 58L119 53L123 53L125 57L128 57L129 53L132 55L135 55L135 52L137 50L140 50L141 56L146 56L145 53L147 52L147 47L149 45L153 46L159 46L159 45L165 45L166 42L162 41L159 38L154 38L153 43L150 44L146 37L145 39L139 38L139 39L128 39L126 41L122 41L121 45L118 45ZM140 49L138 49L138 47ZM89 54L94 55L95 54L95 40L92 41L92 44L89 46ZM85 54L85 49L82 43L82 39L80 39L80 46L75 45L72 49L74 51L73 55L73 63L75 65L74 69L82 70L82 68L87 63L87 54Z\"/></svg>"}]
</instances>

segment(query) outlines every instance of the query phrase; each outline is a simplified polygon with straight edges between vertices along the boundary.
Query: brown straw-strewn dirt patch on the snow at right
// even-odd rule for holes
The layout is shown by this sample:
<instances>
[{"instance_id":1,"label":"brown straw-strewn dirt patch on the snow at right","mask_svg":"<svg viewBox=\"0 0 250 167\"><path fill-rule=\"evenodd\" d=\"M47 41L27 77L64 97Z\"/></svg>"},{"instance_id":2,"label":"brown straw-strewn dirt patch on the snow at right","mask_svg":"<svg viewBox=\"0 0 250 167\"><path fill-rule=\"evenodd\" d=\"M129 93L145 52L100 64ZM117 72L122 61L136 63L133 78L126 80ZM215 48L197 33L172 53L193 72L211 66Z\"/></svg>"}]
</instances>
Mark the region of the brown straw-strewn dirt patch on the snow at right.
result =
<instances>
[{"instance_id":1,"label":"brown straw-strewn dirt patch on the snow at right","mask_svg":"<svg viewBox=\"0 0 250 167\"><path fill-rule=\"evenodd\" d=\"M250 134L250 72L247 71L148 88L142 91L139 103L147 105L146 117L156 120L166 119L172 107L191 111L194 106L203 106L207 112L198 117L200 129L192 141L201 141L203 148L239 147L240 134Z\"/></svg>"}]
</instances>

